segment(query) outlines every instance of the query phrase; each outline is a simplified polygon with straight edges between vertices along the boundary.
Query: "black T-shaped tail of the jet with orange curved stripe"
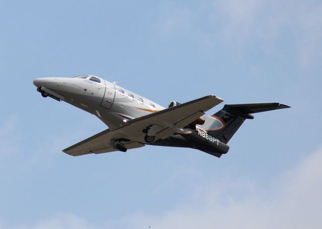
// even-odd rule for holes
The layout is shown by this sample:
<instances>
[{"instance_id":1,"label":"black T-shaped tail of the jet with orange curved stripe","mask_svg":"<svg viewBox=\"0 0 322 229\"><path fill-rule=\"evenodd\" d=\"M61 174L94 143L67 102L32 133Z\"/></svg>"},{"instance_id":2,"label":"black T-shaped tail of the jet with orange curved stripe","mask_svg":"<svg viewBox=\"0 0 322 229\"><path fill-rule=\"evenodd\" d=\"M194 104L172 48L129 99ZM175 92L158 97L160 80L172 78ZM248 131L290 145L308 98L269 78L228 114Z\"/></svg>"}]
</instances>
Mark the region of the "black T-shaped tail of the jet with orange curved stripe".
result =
<instances>
[{"instance_id":1,"label":"black T-shaped tail of the jet with orange curved stripe","mask_svg":"<svg viewBox=\"0 0 322 229\"><path fill-rule=\"evenodd\" d=\"M200 128L205 128L208 133L226 144L246 119L254 119L251 114L283 108L289 108L289 106L279 103L225 105L216 114L210 116L211 123L209 120L204 124L206 126L202 125Z\"/></svg>"}]
</instances>

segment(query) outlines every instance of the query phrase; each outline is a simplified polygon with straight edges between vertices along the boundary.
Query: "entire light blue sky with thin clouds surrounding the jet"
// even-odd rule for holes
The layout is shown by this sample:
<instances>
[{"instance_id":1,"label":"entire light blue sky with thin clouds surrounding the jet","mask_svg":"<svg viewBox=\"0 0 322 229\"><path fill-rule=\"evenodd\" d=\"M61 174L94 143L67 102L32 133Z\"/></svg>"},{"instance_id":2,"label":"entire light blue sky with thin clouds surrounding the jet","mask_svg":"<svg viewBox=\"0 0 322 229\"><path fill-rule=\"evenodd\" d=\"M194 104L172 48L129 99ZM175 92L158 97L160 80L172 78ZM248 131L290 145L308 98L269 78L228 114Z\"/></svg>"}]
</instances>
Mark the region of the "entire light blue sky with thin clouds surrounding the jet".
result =
<instances>
[{"instance_id":1,"label":"entire light blue sky with thin clouds surrounding the jet","mask_svg":"<svg viewBox=\"0 0 322 229\"><path fill-rule=\"evenodd\" d=\"M0 228L320 228L319 1L1 1ZM166 106L281 102L220 159L180 148L71 157L107 128L32 80L91 74ZM208 114L221 109L213 108Z\"/></svg>"}]
</instances>

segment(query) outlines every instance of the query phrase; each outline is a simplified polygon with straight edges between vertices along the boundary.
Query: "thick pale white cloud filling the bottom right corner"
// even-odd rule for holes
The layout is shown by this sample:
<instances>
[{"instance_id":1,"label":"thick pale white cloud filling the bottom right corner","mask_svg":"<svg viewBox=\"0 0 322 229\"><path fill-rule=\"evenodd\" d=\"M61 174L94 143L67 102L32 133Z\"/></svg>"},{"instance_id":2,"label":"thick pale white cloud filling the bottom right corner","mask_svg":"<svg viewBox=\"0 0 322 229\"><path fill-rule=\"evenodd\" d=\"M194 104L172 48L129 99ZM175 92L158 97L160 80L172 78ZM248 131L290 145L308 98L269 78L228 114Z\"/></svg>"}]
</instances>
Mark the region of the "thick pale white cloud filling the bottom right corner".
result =
<instances>
[{"instance_id":1,"label":"thick pale white cloud filling the bottom right corner","mask_svg":"<svg viewBox=\"0 0 322 229\"><path fill-rule=\"evenodd\" d=\"M238 199L225 194L238 180L219 182L223 186L214 184L200 193L199 200L194 200L202 204L170 210L150 223L153 228L321 228L321 164L319 149L283 174L269 191L257 187L254 192L248 184L236 185L236 190L248 190L246 196Z\"/></svg>"}]
</instances>

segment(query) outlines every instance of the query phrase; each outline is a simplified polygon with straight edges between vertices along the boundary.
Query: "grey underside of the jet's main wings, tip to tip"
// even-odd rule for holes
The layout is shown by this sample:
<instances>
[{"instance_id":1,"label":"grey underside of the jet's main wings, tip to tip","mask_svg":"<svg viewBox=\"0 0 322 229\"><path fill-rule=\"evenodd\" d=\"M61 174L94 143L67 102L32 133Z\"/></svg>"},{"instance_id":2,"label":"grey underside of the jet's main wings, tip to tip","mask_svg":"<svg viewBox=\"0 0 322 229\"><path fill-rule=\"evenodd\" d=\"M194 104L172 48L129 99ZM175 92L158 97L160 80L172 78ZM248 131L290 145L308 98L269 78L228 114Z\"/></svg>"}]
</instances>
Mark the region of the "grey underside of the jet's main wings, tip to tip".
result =
<instances>
[{"instance_id":1,"label":"grey underside of the jet's main wings, tip to tip","mask_svg":"<svg viewBox=\"0 0 322 229\"><path fill-rule=\"evenodd\" d=\"M124 126L114 129L107 129L84 141L72 145L63 152L78 156L89 153L105 153L117 151L111 147L112 139L120 139L127 149L144 146L146 131L148 135L165 139L175 132L189 125L205 111L218 105L223 100L219 97L209 95L175 107L151 113L125 123ZM145 130L145 131L144 131Z\"/></svg>"}]
</instances>

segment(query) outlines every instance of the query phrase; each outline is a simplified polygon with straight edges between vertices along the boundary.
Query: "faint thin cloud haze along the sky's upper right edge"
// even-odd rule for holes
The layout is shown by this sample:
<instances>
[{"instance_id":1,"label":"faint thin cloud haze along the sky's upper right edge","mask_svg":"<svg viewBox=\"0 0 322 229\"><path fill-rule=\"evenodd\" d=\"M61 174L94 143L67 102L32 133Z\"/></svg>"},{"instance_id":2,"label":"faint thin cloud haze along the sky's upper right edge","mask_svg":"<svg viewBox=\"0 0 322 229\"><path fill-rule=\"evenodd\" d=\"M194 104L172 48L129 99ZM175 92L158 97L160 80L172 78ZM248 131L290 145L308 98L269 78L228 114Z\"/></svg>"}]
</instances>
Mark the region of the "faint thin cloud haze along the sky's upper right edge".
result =
<instances>
[{"instance_id":1,"label":"faint thin cloud haze along the sky's upper right edge","mask_svg":"<svg viewBox=\"0 0 322 229\"><path fill-rule=\"evenodd\" d=\"M208 45L219 42L233 50L252 46L276 55L293 49L288 50L290 58L295 54L302 68L317 65L322 58L320 1L215 0L198 9L169 5L160 15L159 37L184 33Z\"/></svg>"}]
</instances>

